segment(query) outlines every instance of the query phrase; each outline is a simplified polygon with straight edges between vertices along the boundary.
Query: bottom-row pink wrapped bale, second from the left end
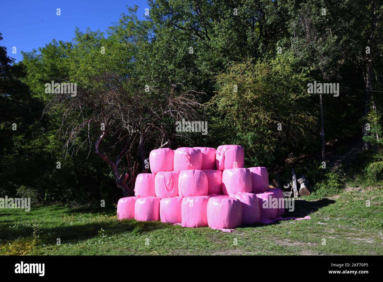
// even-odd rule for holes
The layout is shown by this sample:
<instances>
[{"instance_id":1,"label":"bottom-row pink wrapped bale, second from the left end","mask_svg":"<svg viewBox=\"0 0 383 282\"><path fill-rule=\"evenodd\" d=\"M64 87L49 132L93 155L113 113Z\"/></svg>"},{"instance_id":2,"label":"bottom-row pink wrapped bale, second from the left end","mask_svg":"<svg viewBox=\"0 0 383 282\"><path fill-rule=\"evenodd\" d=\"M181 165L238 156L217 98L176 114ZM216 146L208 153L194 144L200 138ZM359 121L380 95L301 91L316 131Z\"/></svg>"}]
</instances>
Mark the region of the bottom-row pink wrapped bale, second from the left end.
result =
<instances>
[{"instance_id":1,"label":"bottom-row pink wrapped bale, second from the left end","mask_svg":"<svg viewBox=\"0 0 383 282\"><path fill-rule=\"evenodd\" d=\"M160 220L160 200L157 197L137 198L134 205L134 218L138 221Z\"/></svg>"}]
</instances>

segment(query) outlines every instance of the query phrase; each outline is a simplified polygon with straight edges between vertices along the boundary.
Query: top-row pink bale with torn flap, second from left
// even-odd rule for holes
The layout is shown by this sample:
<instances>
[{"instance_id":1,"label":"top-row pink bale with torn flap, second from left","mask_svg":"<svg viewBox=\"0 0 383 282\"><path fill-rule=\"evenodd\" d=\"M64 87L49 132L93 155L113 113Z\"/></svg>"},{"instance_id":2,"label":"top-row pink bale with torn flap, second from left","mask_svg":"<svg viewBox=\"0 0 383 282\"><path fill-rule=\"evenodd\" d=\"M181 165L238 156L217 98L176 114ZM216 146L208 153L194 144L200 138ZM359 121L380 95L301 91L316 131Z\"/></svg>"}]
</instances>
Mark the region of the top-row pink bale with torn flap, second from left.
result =
<instances>
[{"instance_id":1,"label":"top-row pink bale with torn flap, second from left","mask_svg":"<svg viewBox=\"0 0 383 282\"><path fill-rule=\"evenodd\" d=\"M174 153L174 170L177 172L202 167L202 153L199 149L181 147Z\"/></svg>"}]
</instances>

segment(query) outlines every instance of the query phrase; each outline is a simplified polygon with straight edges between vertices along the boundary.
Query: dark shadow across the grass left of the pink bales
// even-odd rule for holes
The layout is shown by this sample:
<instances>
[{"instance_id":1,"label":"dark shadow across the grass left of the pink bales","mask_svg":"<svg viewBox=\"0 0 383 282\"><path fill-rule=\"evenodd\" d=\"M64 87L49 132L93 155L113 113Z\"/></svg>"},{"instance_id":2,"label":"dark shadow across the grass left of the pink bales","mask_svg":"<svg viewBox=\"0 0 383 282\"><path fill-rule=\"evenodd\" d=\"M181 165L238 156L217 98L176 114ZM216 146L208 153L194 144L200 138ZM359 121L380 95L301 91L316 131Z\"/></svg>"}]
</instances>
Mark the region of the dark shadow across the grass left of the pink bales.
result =
<instances>
[{"instance_id":1,"label":"dark shadow across the grass left of the pink bales","mask_svg":"<svg viewBox=\"0 0 383 282\"><path fill-rule=\"evenodd\" d=\"M91 215L90 215L91 214ZM105 215L105 217L104 217ZM112 236L119 233L139 235L155 229L166 228L155 221L117 220L116 208L69 208L36 207L31 212L13 210L0 213L0 240L33 238L39 236L41 243L56 244L62 242L92 239L97 236ZM44 222L49 218L49 222Z\"/></svg>"}]
</instances>

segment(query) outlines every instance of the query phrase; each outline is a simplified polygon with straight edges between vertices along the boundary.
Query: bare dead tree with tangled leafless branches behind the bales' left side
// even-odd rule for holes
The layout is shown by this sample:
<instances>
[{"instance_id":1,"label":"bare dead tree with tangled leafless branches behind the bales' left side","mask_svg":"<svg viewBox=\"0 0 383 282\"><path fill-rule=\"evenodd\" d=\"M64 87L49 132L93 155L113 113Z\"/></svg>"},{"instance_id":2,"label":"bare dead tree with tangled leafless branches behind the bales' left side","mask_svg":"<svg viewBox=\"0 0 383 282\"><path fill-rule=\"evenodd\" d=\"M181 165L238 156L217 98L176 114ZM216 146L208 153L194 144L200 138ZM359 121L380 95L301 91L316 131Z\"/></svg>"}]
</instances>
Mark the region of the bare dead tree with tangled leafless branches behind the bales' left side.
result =
<instances>
[{"instance_id":1,"label":"bare dead tree with tangled leafless branches behind the bales' left side","mask_svg":"<svg viewBox=\"0 0 383 282\"><path fill-rule=\"evenodd\" d=\"M79 85L76 97L55 94L46 111L61 117L58 134L65 141L65 154L87 147L91 151L94 144L95 154L110 166L124 197L133 194L138 165L147 171L146 139L155 137L151 149L169 146L175 121L197 118L202 107L200 92L170 81L165 87L145 89L139 79L105 73Z\"/></svg>"}]
</instances>

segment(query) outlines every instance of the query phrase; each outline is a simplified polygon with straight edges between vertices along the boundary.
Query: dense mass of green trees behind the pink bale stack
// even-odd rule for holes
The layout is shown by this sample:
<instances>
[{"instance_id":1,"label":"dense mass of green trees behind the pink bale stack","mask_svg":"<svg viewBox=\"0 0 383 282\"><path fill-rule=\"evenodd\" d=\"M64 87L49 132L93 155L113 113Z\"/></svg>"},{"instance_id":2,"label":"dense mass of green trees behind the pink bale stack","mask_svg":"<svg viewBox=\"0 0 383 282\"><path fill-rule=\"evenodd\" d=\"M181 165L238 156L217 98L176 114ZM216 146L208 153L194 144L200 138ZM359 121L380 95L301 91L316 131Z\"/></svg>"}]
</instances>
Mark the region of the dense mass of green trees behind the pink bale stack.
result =
<instances>
[{"instance_id":1,"label":"dense mass of green trees behind the pink bale stack","mask_svg":"<svg viewBox=\"0 0 383 282\"><path fill-rule=\"evenodd\" d=\"M240 144L246 166L270 171L291 153L319 162L314 80L340 85L323 94L326 142L362 143L368 122L363 140L382 147L383 99L366 91L383 90L382 1L148 3L144 20L127 7L105 33L77 29L18 64L0 49L1 195L120 197L116 182L131 192L159 146ZM76 83L77 96L45 93L52 80ZM208 134L176 132L181 119L207 121ZM379 178L381 167L367 173Z\"/></svg>"}]
</instances>

